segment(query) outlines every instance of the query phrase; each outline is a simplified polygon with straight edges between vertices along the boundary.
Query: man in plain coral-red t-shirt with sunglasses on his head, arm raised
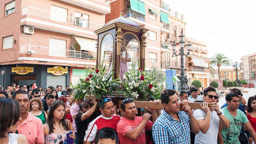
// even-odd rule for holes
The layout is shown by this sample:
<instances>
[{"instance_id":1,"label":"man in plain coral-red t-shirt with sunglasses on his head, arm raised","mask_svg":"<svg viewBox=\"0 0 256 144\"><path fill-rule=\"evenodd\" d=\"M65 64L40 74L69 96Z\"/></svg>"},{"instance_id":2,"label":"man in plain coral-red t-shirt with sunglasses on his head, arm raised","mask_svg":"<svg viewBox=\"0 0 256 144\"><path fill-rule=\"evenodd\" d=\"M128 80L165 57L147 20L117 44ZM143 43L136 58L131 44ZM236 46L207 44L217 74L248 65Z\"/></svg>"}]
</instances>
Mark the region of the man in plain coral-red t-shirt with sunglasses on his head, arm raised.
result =
<instances>
[{"instance_id":1,"label":"man in plain coral-red t-shirt with sunglasses on his head, arm raised","mask_svg":"<svg viewBox=\"0 0 256 144\"><path fill-rule=\"evenodd\" d=\"M121 111L124 118L117 124L117 133L122 144L146 144L145 131L152 130L153 123L157 120L156 110L147 109L143 117L136 116L137 109L132 99L124 99L121 103ZM150 121L152 116L153 122Z\"/></svg>"}]
</instances>

